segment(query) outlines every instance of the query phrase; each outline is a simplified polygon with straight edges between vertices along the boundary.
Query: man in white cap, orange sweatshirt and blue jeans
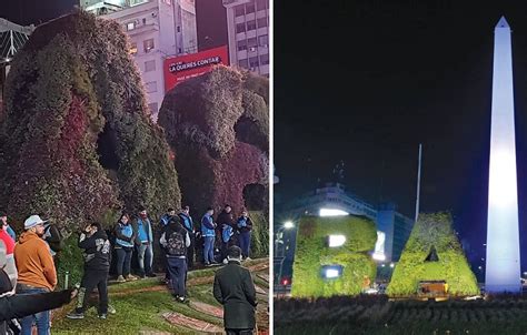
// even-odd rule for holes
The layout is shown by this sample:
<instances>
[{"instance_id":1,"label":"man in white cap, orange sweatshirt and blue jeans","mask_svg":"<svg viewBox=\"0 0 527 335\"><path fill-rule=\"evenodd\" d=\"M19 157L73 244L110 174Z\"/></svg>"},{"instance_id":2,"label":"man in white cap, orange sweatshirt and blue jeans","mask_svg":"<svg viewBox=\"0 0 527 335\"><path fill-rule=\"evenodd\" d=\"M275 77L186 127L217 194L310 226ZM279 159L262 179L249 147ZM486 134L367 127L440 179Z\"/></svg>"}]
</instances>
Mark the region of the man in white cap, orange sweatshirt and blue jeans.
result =
<instances>
[{"instance_id":1,"label":"man in white cap, orange sweatshirt and blue jeans","mask_svg":"<svg viewBox=\"0 0 527 335\"><path fill-rule=\"evenodd\" d=\"M18 268L17 294L34 294L53 291L57 285L57 272L49 245L41 238L44 234L39 215L29 216L24 232L14 246L14 261ZM50 311L26 316L21 321L22 335L30 335L36 321L39 335L50 334Z\"/></svg>"}]
</instances>

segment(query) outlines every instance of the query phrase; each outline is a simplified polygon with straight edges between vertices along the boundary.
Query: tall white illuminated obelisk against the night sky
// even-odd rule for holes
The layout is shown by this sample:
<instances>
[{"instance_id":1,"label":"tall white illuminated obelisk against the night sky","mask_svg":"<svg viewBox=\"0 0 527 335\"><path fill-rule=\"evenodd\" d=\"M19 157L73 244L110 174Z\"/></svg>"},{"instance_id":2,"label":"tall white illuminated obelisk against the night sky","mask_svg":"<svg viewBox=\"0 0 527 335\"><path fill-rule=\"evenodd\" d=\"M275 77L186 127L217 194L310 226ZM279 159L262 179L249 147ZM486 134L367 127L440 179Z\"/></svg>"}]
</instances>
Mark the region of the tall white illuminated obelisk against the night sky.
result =
<instances>
[{"instance_id":1,"label":"tall white illuminated obelisk against the night sky","mask_svg":"<svg viewBox=\"0 0 527 335\"><path fill-rule=\"evenodd\" d=\"M491 113L485 290L518 292L520 264L513 54L510 27L504 17L494 30Z\"/></svg>"}]
</instances>

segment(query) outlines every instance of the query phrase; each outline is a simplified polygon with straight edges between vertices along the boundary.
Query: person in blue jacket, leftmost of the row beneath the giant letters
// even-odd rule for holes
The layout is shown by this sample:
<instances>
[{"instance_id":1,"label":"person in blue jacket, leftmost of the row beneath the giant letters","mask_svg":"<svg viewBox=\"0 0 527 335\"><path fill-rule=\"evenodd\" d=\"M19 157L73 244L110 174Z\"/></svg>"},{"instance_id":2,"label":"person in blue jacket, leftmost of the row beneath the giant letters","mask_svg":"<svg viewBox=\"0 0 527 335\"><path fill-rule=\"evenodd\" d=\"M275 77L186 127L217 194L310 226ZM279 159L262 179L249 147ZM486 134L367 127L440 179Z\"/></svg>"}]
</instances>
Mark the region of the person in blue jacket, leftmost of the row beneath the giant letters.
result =
<instances>
[{"instance_id":1,"label":"person in blue jacket, leftmost of the row beneath the giant letters","mask_svg":"<svg viewBox=\"0 0 527 335\"><path fill-rule=\"evenodd\" d=\"M115 229L117 253L117 282L136 281L130 274L131 254L136 235L130 224L130 215L122 213Z\"/></svg>"}]
</instances>

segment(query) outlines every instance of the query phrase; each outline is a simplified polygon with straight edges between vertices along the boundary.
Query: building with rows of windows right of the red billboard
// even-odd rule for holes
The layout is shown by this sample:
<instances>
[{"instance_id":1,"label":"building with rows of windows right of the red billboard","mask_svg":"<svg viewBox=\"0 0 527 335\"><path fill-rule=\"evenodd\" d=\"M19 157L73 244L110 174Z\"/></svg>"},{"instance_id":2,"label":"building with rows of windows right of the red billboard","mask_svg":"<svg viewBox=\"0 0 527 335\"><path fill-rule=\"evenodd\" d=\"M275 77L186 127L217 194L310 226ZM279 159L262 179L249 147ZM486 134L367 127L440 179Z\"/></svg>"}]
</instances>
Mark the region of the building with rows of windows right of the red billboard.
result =
<instances>
[{"instance_id":1,"label":"building with rows of windows right of the red billboard","mask_svg":"<svg viewBox=\"0 0 527 335\"><path fill-rule=\"evenodd\" d=\"M269 0L223 0L232 67L269 77Z\"/></svg>"}]
</instances>

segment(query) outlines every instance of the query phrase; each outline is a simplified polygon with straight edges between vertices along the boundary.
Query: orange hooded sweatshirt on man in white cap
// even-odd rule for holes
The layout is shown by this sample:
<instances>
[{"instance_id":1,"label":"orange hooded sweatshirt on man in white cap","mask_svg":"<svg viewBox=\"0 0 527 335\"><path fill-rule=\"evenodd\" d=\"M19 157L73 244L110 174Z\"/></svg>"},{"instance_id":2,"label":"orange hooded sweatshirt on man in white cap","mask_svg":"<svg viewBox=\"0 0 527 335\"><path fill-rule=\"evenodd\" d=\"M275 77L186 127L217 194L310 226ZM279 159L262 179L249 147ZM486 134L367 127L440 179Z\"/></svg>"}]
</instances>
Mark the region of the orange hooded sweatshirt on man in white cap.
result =
<instances>
[{"instance_id":1,"label":"orange hooded sweatshirt on man in white cap","mask_svg":"<svg viewBox=\"0 0 527 335\"><path fill-rule=\"evenodd\" d=\"M34 287L53 291L57 272L49 245L36 233L24 232L14 246L18 282Z\"/></svg>"}]
</instances>

